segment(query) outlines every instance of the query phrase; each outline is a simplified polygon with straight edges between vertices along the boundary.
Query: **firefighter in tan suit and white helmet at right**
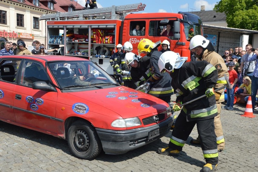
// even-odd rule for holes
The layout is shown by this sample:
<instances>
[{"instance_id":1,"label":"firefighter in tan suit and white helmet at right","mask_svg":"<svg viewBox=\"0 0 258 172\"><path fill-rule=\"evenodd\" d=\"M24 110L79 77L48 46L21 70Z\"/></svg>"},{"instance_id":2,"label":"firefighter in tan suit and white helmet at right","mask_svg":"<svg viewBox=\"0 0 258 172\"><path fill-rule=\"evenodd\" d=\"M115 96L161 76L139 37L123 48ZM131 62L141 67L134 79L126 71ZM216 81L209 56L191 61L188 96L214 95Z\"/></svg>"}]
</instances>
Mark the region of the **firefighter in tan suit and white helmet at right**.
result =
<instances>
[{"instance_id":1,"label":"firefighter in tan suit and white helmet at right","mask_svg":"<svg viewBox=\"0 0 258 172\"><path fill-rule=\"evenodd\" d=\"M201 35L194 36L190 41L189 49L194 52L196 60L205 60L212 64L218 71L218 80L215 89L227 84L224 74L229 76L227 66L221 56L214 52L212 43ZM224 102L224 89L215 93L218 115L214 118L215 133L217 136L218 152L225 148L225 140L223 136L223 129L220 121L221 102ZM192 144L200 144L200 138L192 139Z\"/></svg>"}]
</instances>

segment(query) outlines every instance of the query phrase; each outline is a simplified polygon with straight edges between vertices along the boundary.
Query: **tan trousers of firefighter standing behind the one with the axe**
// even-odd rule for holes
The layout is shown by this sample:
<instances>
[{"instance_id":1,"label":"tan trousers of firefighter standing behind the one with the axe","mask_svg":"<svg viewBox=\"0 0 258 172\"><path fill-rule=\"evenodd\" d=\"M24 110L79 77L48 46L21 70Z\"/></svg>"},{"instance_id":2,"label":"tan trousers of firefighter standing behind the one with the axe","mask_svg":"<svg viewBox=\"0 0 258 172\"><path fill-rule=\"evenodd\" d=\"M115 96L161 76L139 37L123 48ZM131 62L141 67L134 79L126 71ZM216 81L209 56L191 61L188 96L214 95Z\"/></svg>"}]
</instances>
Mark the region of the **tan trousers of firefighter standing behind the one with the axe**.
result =
<instances>
[{"instance_id":1,"label":"tan trousers of firefighter standing behind the one with the axe","mask_svg":"<svg viewBox=\"0 0 258 172\"><path fill-rule=\"evenodd\" d=\"M221 103L217 103L217 110L218 110L218 115L214 117L215 134L217 137L218 149L223 150L225 148L225 140L224 140L223 129L220 121ZM199 136L196 138L196 140L200 141Z\"/></svg>"}]
</instances>

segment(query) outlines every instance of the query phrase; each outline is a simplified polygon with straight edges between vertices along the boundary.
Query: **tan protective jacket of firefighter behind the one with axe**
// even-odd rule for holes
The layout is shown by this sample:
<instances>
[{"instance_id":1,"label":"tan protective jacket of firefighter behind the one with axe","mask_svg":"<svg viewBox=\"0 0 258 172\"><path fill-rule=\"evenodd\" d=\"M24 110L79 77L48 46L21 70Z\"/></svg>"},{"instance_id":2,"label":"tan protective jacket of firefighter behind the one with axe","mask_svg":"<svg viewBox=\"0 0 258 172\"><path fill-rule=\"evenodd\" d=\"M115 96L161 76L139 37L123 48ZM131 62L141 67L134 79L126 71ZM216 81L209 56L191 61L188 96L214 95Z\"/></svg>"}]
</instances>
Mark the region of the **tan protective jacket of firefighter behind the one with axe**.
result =
<instances>
[{"instance_id":1,"label":"tan protective jacket of firefighter behind the one with axe","mask_svg":"<svg viewBox=\"0 0 258 172\"><path fill-rule=\"evenodd\" d=\"M196 55L196 57L197 57L197 60L199 60L199 61L200 61L200 59L202 61L205 60L205 61L209 62L210 64L212 64L217 69L218 80L217 80L217 84L214 89L220 88L227 83L224 74L226 74L227 77L229 77L229 74L227 72L228 69L227 69L227 66L226 66L223 58L217 52L209 51L206 49L203 52L202 58L200 58L200 56L198 56L198 55ZM217 91L217 93L220 93L221 96L220 96L220 99L216 103L224 102L224 89Z\"/></svg>"}]
</instances>

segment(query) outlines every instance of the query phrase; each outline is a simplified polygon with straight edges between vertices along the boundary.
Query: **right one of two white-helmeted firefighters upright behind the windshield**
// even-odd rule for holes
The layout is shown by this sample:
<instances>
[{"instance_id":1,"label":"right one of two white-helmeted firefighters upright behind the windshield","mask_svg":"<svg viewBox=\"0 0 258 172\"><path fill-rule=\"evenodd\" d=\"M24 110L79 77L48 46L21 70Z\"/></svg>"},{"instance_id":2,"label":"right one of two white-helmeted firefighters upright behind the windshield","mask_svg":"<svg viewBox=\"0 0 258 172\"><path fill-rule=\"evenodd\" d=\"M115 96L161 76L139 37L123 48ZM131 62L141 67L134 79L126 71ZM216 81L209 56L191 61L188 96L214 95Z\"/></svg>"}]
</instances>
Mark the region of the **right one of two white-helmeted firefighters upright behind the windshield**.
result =
<instances>
[{"instance_id":1,"label":"right one of two white-helmeted firefighters upright behind the windshield","mask_svg":"<svg viewBox=\"0 0 258 172\"><path fill-rule=\"evenodd\" d=\"M131 78L130 75L125 74L126 71L127 72L130 71L130 68L128 68L124 62L125 54L133 50L133 45L127 41L124 43L123 49L125 52L120 56L117 56L117 60L114 61L114 68L117 71L117 74L121 74L121 77L122 77L121 85L127 86L132 89L136 89L137 86L134 83L134 80Z\"/></svg>"}]
</instances>

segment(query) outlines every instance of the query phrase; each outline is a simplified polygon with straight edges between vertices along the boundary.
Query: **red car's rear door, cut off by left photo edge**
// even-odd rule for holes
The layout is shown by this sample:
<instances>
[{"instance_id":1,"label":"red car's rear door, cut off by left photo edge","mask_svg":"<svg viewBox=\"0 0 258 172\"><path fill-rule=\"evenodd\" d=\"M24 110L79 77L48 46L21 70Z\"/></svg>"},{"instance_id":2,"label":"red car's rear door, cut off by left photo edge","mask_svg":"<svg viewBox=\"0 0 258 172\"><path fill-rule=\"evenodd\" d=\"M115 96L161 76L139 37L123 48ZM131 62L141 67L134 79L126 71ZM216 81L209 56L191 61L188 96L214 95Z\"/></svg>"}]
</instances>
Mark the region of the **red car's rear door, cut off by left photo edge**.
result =
<instances>
[{"instance_id":1,"label":"red car's rear door, cut off by left photo edge","mask_svg":"<svg viewBox=\"0 0 258 172\"><path fill-rule=\"evenodd\" d=\"M0 65L0 118L3 121L9 120L15 122L12 106L16 86L13 81L17 73L17 62L20 62L20 60L2 58Z\"/></svg>"}]
</instances>

